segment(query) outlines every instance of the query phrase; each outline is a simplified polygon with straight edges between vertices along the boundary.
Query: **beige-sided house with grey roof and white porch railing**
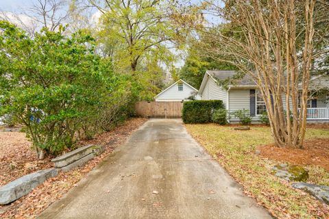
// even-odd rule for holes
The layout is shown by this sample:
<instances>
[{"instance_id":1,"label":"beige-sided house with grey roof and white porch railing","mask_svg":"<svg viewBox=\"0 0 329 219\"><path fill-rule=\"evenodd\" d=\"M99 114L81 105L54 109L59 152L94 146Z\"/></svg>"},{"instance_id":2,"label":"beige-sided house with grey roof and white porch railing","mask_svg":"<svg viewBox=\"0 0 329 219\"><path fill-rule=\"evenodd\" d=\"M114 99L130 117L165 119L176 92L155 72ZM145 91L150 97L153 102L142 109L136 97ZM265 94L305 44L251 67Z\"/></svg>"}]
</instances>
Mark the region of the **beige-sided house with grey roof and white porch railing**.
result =
<instances>
[{"instance_id":1,"label":"beige-sided house with grey roof and white porch railing","mask_svg":"<svg viewBox=\"0 0 329 219\"><path fill-rule=\"evenodd\" d=\"M221 100L223 101L226 110L232 114L236 110L249 110L250 115L254 121L259 120L259 116L266 111L265 102L263 97L258 92L256 83L247 75L243 79L235 83L228 83L228 88L220 86L218 81L230 79L236 74L234 70L207 70L202 84L199 88L199 95L202 100ZM327 93L323 94L317 99L310 99L308 107L308 120L320 120L329 122L329 104L328 104L328 77L314 77L311 79L310 88L320 88L326 90ZM282 99L284 101L284 99ZM283 103L285 106L285 103ZM284 109L285 110L285 109ZM230 122L236 122L234 116Z\"/></svg>"}]
</instances>

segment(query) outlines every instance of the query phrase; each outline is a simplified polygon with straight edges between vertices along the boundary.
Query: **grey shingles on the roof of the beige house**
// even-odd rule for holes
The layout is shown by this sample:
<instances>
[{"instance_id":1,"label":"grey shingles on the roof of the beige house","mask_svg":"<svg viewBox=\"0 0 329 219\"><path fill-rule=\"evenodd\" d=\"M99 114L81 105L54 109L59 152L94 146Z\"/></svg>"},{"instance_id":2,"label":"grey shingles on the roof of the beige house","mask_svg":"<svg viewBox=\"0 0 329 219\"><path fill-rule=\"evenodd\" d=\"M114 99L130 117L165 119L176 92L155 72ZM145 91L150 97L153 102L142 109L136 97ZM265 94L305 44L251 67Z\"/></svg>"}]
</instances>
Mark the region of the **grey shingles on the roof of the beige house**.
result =
<instances>
[{"instance_id":1,"label":"grey shingles on the roof of the beige house","mask_svg":"<svg viewBox=\"0 0 329 219\"><path fill-rule=\"evenodd\" d=\"M235 70L207 70L207 73L214 77L215 79L225 80L232 78L236 75ZM245 75L242 79L230 79L230 84L234 85L250 85L255 86L256 83L252 80L249 75Z\"/></svg>"}]
</instances>

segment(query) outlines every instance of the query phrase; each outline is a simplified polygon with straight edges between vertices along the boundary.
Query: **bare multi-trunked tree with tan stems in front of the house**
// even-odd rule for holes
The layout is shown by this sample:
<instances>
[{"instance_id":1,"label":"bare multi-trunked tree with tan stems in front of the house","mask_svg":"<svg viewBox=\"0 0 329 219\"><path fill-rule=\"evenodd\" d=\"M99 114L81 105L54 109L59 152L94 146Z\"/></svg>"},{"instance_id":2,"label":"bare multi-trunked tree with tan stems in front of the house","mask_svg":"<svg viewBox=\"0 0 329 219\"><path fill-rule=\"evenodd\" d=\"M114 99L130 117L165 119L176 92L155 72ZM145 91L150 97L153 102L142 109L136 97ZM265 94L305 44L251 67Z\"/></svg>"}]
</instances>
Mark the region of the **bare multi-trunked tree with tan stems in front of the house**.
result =
<instances>
[{"instance_id":1,"label":"bare multi-trunked tree with tan stems in front of the house","mask_svg":"<svg viewBox=\"0 0 329 219\"><path fill-rule=\"evenodd\" d=\"M316 0L224 3L225 8L213 8L226 23L206 33L208 54L234 64L254 79L263 95L276 145L302 148L310 69L324 51L315 46L321 40L315 14L325 5Z\"/></svg>"}]
</instances>

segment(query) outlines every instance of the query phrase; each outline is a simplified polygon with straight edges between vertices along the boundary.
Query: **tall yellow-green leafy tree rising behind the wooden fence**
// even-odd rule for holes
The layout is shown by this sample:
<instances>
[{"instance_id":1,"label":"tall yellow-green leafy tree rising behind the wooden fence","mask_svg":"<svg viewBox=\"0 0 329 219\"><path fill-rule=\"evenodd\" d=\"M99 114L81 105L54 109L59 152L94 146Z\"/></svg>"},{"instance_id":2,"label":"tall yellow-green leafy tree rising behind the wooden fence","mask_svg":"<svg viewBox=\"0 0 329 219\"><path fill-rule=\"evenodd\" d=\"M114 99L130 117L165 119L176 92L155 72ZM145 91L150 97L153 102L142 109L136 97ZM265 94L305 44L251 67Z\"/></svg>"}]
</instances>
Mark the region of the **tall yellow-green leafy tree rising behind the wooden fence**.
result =
<instances>
[{"instance_id":1,"label":"tall yellow-green leafy tree rising behind the wooden fence","mask_svg":"<svg viewBox=\"0 0 329 219\"><path fill-rule=\"evenodd\" d=\"M97 44L110 57L114 71L132 75L138 99L151 101L164 88L164 75L175 67L169 40L178 28L163 13L163 1L89 1L101 9ZM110 5L110 7L108 7Z\"/></svg>"}]
</instances>

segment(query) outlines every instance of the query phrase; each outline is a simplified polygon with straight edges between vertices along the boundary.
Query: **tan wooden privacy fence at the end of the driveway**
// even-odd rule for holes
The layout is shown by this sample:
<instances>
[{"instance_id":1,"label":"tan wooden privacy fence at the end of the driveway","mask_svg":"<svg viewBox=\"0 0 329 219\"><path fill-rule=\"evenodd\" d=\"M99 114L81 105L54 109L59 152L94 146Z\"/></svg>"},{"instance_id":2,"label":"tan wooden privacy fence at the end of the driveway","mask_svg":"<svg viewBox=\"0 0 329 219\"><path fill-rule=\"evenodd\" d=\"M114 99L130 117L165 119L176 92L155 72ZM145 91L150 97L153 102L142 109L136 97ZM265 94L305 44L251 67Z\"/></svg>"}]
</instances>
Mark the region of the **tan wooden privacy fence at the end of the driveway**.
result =
<instances>
[{"instance_id":1,"label":"tan wooden privacy fence at the end of the driveway","mask_svg":"<svg viewBox=\"0 0 329 219\"><path fill-rule=\"evenodd\" d=\"M137 116L145 118L180 118L182 117L182 102L147 102L135 104Z\"/></svg>"}]
</instances>

